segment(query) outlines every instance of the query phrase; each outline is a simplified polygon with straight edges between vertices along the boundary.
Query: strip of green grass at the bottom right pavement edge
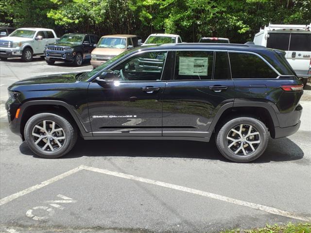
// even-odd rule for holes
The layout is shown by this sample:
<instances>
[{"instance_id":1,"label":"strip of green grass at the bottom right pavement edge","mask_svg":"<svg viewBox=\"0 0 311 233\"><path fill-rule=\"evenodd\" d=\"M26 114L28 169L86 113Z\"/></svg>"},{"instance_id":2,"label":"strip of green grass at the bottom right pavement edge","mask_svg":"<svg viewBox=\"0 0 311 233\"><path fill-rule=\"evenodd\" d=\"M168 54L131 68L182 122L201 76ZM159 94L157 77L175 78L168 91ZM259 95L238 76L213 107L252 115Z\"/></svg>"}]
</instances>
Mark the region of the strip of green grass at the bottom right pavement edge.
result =
<instances>
[{"instance_id":1,"label":"strip of green grass at the bottom right pavement edge","mask_svg":"<svg viewBox=\"0 0 311 233\"><path fill-rule=\"evenodd\" d=\"M266 225L264 228L252 230L226 230L221 233L311 233L310 223L288 223L287 225Z\"/></svg>"}]
</instances>

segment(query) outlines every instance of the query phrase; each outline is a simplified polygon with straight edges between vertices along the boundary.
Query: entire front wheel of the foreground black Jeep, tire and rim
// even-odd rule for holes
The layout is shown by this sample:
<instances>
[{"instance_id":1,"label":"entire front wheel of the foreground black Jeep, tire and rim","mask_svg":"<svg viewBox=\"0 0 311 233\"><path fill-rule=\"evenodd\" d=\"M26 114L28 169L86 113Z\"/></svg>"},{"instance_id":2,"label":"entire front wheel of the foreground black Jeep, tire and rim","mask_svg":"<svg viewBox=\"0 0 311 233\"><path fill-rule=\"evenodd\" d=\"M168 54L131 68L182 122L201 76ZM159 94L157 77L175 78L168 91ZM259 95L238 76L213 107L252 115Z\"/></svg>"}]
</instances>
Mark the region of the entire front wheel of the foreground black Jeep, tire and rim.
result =
<instances>
[{"instance_id":1,"label":"entire front wheel of the foreground black Jeep, tire and rim","mask_svg":"<svg viewBox=\"0 0 311 233\"><path fill-rule=\"evenodd\" d=\"M58 158L67 154L77 140L73 125L64 117L52 113L30 117L24 136L30 149L43 158Z\"/></svg>"}]
</instances>

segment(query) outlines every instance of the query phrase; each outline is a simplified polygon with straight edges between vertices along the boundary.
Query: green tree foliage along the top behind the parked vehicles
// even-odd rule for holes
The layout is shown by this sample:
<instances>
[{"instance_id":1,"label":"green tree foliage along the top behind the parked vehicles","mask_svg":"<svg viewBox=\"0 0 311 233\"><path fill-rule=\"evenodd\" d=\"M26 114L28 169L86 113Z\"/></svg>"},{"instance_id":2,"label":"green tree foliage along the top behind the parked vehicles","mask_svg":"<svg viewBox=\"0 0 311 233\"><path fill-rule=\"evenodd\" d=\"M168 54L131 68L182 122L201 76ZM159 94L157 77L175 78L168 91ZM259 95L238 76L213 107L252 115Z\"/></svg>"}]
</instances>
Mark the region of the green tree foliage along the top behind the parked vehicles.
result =
<instances>
[{"instance_id":1,"label":"green tree foliage along the top behind the parked vehicles","mask_svg":"<svg viewBox=\"0 0 311 233\"><path fill-rule=\"evenodd\" d=\"M311 0L1 0L0 22L65 32L178 33L187 42L201 36L253 39L260 27L309 24Z\"/></svg>"}]
</instances>

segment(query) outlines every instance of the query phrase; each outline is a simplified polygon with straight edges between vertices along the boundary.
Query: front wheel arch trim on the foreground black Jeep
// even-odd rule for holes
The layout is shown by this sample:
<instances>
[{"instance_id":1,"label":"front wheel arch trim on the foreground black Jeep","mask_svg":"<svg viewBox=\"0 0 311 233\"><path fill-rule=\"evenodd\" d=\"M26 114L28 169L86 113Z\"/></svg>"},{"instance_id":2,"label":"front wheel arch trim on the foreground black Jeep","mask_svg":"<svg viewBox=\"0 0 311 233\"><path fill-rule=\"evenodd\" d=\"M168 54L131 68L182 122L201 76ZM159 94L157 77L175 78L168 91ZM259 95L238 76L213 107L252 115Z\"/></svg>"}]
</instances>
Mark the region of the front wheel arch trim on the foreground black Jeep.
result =
<instances>
[{"instance_id":1,"label":"front wheel arch trim on the foreground black Jeep","mask_svg":"<svg viewBox=\"0 0 311 233\"><path fill-rule=\"evenodd\" d=\"M76 115L76 113L73 111L72 107L68 103L66 103L64 101L60 101L60 100L30 100L30 101L23 103L20 106L20 116L23 116L23 112L28 107L33 106L33 105L60 105L60 106L65 107L69 111L69 113L72 116L72 118L74 119L74 121L76 122L77 126L79 127L79 130L80 130L82 136L83 137L92 136L91 132L86 131L86 128L82 124L80 117ZM22 117L17 119L18 120L17 121L17 127L18 128L20 128L21 118Z\"/></svg>"}]
</instances>

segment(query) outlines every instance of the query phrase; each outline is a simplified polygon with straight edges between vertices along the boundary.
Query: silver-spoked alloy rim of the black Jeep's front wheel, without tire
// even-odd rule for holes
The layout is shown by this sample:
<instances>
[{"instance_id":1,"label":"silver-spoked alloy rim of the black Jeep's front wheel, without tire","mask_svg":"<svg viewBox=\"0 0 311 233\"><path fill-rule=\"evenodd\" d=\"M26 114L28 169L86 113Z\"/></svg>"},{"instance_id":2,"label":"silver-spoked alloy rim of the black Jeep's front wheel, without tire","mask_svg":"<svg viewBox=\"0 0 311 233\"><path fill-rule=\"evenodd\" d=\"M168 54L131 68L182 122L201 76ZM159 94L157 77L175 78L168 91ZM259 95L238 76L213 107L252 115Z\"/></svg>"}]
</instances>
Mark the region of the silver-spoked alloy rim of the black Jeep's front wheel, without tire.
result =
<instances>
[{"instance_id":1,"label":"silver-spoked alloy rim of the black Jeep's front wheel, without tire","mask_svg":"<svg viewBox=\"0 0 311 233\"><path fill-rule=\"evenodd\" d=\"M65 131L52 120L43 120L32 131L35 145L44 151L59 150L65 143Z\"/></svg>"}]
</instances>

